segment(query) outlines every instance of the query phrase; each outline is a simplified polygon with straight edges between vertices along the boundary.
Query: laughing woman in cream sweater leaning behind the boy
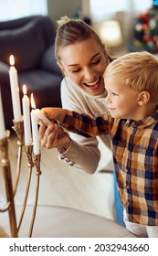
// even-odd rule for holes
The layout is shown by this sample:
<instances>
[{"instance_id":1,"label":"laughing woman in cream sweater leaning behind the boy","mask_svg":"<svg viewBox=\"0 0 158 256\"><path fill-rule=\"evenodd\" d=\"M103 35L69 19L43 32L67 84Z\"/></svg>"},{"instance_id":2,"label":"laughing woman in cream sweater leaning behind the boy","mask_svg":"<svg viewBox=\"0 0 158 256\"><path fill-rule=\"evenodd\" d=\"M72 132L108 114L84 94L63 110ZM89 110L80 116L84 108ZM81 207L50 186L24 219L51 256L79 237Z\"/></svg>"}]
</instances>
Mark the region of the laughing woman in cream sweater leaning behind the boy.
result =
<instances>
[{"instance_id":1,"label":"laughing woman in cream sweater leaning behind the boy","mask_svg":"<svg viewBox=\"0 0 158 256\"><path fill-rule=\"evenodd\" d=\"M55 56L64 75L61 82L62 106L91 116L100 115L106 111L102 75L112 59L100 37L82 20L64 16L58 24ZM57 124L46 126L40 123L39 138L43 146L57 147L61 159L66 158L69 165L75 165L90 174L96 171L100 161L97 137L84 138L74 133L68 135ZM108 137L100 136L100 139L110 146ZM117 188L115 201L121 204ZM116 211L116 219L122 224L122 216L118 217L117 212L121 210Z\"/></svg>"}]
</instances>

